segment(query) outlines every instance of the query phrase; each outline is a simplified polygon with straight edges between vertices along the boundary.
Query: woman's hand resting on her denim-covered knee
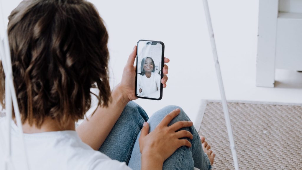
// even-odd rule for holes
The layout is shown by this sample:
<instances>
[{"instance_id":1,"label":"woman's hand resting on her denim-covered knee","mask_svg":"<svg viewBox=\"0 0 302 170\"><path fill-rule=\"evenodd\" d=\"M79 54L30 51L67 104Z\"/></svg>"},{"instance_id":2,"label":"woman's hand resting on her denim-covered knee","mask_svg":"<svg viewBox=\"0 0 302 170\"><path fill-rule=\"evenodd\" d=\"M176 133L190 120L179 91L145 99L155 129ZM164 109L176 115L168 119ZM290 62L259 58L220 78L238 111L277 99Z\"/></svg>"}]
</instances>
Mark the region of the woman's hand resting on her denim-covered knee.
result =
<instances>
[{"instance_id":1,"label":"woman's hand resting on her denim-covered knee","mask_svg":"<svg viewBox=\"0 0 302 170\"><path fill-rule=\"evenodd\" d=\"M140 152L142 154L142 169L162 169L163 162L181 146L191 147L187 137L193 139L191 132L178 129L193 126L191 121L179 121L171 126L168 124L180 113L175 109L149 133L149 124L145 122L139 138Z\"/></svg>"}]
</instances>

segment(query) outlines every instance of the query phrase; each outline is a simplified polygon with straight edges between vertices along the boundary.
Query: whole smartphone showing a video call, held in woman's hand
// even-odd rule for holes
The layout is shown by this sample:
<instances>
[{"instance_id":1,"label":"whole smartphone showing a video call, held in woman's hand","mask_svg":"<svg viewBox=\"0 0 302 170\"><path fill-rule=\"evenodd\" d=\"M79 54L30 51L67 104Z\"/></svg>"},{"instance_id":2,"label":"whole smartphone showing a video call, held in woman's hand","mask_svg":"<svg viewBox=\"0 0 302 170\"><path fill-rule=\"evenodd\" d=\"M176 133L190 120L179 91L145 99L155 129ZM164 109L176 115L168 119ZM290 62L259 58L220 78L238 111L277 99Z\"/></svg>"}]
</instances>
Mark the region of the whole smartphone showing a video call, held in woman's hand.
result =
<instances>
[{"instance_id":1,"label":"whole smartphone showing a video call, held in woman's hand","mask_svg":"<svg viewBox=\"0 0 302 170\"><path fill-rule=\"evenodd\" d=\"M161 41L137 42L135 95L138 98L162 99L162 68L165 45Z\"/></svg>"}]
</instances>

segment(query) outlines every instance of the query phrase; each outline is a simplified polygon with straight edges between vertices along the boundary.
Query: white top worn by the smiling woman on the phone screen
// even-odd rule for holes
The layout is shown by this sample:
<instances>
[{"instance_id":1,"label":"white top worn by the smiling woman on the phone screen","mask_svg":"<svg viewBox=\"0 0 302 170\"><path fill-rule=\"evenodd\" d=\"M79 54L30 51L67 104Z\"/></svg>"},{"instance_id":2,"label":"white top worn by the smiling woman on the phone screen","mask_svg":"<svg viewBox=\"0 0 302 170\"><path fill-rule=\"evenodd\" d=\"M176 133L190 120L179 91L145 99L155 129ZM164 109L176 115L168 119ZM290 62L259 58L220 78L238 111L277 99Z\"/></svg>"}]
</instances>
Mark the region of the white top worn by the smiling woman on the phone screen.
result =
<instances>
[{"instance_id":1,"label":"white top worn by the smiling woman on the phone screen","mask_svg":"<svg viewBox=\"0 0 302 170\"><path fill-rule=\"evenodd\" d=\"M138 74L137 87L142 88L144 96L154 94L154 92L159 91L160 89L160 75L158 73L151 72L151 77L148 78L146 77L146 74L143 76Z\"/></svg>"}]
</instances>

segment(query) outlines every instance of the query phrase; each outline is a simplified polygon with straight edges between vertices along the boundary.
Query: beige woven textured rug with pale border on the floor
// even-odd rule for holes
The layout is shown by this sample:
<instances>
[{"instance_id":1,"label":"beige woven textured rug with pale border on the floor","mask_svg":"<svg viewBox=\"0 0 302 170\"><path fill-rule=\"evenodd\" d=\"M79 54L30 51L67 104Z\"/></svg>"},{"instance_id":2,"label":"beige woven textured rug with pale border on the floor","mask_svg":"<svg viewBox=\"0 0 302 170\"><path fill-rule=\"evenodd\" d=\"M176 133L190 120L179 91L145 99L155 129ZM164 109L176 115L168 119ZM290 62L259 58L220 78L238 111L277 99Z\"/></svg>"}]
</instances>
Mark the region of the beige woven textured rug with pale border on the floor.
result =
<instances>
[{"instance_id":1,"label":"beige woven textured rug with pale border on the floor","mask_svg":"<svg viewBox=\"0 0 302 170\"><path fill-rule=\"evenodd\" d=\"M229 102L239 169L302 169L302 104ZM234 169L222 105L202 101L195 127L215 152L213 170Z\"/></svg>"}]
</instances>

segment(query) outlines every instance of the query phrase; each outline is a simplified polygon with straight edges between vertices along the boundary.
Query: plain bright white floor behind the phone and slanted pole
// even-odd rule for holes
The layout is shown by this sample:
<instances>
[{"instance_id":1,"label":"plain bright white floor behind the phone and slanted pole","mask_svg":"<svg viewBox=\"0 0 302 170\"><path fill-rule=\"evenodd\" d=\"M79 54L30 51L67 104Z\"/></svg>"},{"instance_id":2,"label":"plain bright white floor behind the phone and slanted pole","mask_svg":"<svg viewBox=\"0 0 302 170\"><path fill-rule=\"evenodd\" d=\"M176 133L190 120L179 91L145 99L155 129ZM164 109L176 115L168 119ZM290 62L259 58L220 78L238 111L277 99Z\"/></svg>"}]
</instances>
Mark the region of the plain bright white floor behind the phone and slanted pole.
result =
<instances>
[{"instance_id":1,"label":"plain bright white floor behind the phone and slanted pole","mask_svg":"<svg viewBox=\"0 0 302 170\"><path fill-rule=\"evenodd\" d=\"M20 0L4 9L8 16ZM220 99L200 0L91 0L106 23L112 87L140 39L165 43L169 63L163 99L136 100L151 116L166 105L182 107L192 121L202 99ZM218 57L227 100L302 103L302 73L276 70L276 87L255 87L259 1L210 0Z\"/></svg>"}]
</instances>

